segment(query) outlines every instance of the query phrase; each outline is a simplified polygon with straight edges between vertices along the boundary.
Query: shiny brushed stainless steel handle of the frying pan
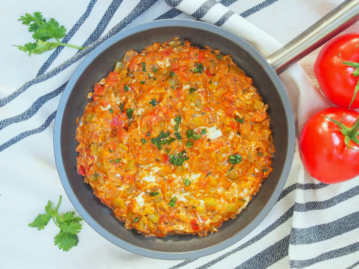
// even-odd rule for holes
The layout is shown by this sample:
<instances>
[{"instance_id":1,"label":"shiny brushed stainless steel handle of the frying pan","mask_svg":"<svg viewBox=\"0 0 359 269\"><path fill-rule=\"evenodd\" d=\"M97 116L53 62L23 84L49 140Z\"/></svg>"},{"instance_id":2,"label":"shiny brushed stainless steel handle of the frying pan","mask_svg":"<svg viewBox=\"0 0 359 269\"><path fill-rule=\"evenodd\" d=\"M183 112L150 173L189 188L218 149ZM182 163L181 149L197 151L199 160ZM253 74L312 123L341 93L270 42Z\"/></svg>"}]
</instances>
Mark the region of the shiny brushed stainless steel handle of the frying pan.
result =
<instances>
[{"instance_id":1,"label":"shiny brushed stainless steel handle of the frying pan","mask_svg":"<svg viewBox=\"0 0 359 269\"><path fill-rule=\"evenodd\" d=\"M359 0L346 0L266 60L279 75L358 20Z\"/></svg>"}]
</instances>

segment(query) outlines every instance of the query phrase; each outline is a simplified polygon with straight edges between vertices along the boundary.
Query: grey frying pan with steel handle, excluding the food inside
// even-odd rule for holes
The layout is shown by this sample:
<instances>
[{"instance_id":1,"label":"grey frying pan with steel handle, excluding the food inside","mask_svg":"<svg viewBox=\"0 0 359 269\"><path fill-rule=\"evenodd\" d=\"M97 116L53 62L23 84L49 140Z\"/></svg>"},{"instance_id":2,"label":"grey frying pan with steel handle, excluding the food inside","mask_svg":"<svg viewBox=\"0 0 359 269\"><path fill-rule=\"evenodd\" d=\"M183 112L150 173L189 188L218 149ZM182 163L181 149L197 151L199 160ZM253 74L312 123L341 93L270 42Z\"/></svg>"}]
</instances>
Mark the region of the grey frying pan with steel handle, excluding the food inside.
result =
<instances>
[{"instance_id":1,"label":"grey frying pan with steel handle, excluding the food inside","mask_svg":"<svg viewBox=\"0 0 359 269\"><path fill-rule=\"evenodd\" d=\"M278 75L292 63L353 24L358 19L359 0L348 0L325 18L308 28L306 33L271 55L267 60L242 38L212 24L194 20L157 20L122 30L94 49L79 65L69 80L57 110L54 150L57 169L64 189L76 210L100 235L133 253L158 259L196 259L236 243L254 230L279 198L288 177L294 154L294 117ZM192 45L217 48L253 79L254 86L269 104L270 127L276 149L273 171L259 192L236 219L228 220L212 235L171 235L164 238L144 237L126 230L101 203L92 189L77 174L75 119L83 114L87 93L95 82L112 71L126 50L142 51L154 42L173 37L188 39Z\"/></svg>"}]
</instances>

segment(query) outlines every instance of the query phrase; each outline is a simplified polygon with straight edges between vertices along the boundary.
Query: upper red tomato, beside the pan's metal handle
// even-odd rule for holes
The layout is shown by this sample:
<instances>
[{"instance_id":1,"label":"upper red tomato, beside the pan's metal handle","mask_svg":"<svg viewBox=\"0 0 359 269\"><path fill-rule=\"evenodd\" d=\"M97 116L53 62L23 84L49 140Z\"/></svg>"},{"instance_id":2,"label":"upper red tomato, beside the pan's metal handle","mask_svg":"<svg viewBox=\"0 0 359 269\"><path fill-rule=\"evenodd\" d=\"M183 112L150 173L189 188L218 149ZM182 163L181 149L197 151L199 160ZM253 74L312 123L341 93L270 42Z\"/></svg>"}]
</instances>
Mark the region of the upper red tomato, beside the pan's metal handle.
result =
<instances>
[{"instance_id":1,"label":"upper red tomato, beside the pan's metal handle","mask_svg":"<svg viewBox=\"0 0 359 269\"><path fill-rule=\"evenodd\" d=\"M326 43L314 63L314 75L325 97L335 105L349 107L358 76L353 76L354 67L341 63L359 62L359 33L343 34ZM359 108L359 94L350 108Z\"/></svg>"}]
</instances>

